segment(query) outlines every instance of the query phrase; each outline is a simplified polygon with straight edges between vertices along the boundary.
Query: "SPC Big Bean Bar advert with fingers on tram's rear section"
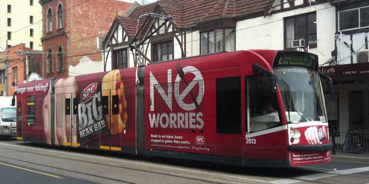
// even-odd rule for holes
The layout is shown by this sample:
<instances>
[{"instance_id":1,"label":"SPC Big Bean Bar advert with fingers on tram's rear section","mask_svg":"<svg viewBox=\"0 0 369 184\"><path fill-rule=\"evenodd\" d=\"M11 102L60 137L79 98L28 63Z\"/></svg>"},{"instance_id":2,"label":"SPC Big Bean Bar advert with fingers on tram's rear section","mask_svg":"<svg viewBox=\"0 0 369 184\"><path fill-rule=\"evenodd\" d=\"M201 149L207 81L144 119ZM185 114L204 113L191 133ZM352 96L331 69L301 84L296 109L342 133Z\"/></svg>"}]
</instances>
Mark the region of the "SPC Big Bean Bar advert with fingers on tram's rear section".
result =
<instances>
[{"instance_id":1,"label":"SPC Big Bean Bar advert with fingers on tram's rear section","mask_svg":"<svg viewBox=\"0 0 369 184\"><path fill-rule=\"evenodd\" d=\"M86 148L134 146L131 141L135 136L134 80L125 80L119 70L93 75L55 80L55 144ZM42 114L48 116L51 110L49 86L50 81L40 81L37 86L24 84L17 91L42 100ZM36 108L36 114L41 109ZM34 126L43 123L45 137L40 139L50 144L50 118L44 116L43 121L37 121ZM123 140L129 141L123 143Z\"/></svg>"}]
</instances>

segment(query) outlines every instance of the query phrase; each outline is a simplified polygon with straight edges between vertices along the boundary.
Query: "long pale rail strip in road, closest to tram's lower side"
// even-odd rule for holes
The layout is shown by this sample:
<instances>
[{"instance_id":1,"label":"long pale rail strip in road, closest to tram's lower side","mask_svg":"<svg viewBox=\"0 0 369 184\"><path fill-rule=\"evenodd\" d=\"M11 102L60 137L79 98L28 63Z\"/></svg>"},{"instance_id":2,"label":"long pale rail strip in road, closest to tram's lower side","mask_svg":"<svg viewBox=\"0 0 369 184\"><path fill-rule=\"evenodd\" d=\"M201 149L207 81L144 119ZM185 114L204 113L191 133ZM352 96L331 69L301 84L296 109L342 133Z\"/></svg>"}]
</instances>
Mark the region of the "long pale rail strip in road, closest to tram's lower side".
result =
<instances>
[{"instance_id":1,"label":"long pale rail strip in road, closest to tram's lower side","mask_svg":"<svg viewBox=\"0 0 369 184\"><path fill-rule=\"evenodd\" d=\"M229 175L226 175L226 174L216 174L216 173L196 171L196 170L190 170L190 169L180 169L180 168L169 167L169 166L160 166L160 165L156 165L156 164L146 164L146 163L142 163L142 162L126 161L126 160L119 160L119 159L99 157L99 156L91 156L91 155L85 155L85 154L68 153L68 152L64 152L64 151L55 151L55 150L48 150L48 149L33 148L33 147L30 147L30 146L18 146L18 145L12 145L12 144L4 144L4 143L0 143L0 145L26 148L26 149L34 149L34 150L41 150L41 151L49 151L49 152L54 152L54 153L63 153L63 154L68 154L68 155L83 156L83 157L89 157L89 158L105 159L105 160L110 160L110 161L113 161L113 162L121 162L121 163L126 163L126 164L137 164L137 165L151 166L151 167L157 167L157 168L162 168L162 169L171 169L171 170L177 170L177 171L183 171L183 172L199 173L199 174L203 174L205 176L212 175L212 176L227 177L227 178L238 179L238 180L247 180L247 181L270 183L270 181L266 181L266 180L244 178L244 177L239 177L239 176L229 176Z\"/></svg>"}]
</instances>

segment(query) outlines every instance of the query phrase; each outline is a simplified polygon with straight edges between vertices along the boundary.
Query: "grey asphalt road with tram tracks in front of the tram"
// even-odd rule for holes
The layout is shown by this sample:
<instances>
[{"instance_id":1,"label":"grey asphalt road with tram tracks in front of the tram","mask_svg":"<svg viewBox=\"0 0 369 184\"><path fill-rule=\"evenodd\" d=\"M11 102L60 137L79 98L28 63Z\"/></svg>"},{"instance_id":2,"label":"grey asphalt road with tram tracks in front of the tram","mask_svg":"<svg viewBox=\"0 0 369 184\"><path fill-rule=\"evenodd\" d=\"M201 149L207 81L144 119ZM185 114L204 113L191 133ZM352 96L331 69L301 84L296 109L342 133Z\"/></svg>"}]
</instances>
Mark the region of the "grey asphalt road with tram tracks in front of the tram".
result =
<instances>
[{"instance_id":1,"label":"grey asphalt road with tram tracks in front of the tram","mask_svg":"<svg viewBox=\"0 0 369 184\"><path fill-rule=\"evenodd\" d=\"M0 183L369 183L369 163L241 168L2 140Z\"/></svg>"}]
</instances>

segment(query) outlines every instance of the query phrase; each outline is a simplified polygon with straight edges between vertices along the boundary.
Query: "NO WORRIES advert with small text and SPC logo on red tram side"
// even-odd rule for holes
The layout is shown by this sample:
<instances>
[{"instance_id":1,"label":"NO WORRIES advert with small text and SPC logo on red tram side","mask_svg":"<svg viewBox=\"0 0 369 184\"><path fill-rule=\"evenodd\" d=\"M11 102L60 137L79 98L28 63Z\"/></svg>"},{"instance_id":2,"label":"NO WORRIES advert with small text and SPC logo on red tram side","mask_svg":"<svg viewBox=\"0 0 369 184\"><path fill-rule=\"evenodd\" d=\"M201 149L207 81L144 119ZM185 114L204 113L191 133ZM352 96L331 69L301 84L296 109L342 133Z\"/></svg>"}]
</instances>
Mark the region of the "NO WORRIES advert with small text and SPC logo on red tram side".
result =
<instances>
[{"instance_id":1,"label":"NO WORRIES advert with small text and SPC logo on red tram side","mask_svg":"<svg viewBox=\"0 0 369 184\"><path fill-rule=\"evenodd\" d=\"M166 73L148 71L147 148L212 153L213 147L203 136L206 93L201 72L179 62L167 66Z\"/></svg>"}]
</instances>

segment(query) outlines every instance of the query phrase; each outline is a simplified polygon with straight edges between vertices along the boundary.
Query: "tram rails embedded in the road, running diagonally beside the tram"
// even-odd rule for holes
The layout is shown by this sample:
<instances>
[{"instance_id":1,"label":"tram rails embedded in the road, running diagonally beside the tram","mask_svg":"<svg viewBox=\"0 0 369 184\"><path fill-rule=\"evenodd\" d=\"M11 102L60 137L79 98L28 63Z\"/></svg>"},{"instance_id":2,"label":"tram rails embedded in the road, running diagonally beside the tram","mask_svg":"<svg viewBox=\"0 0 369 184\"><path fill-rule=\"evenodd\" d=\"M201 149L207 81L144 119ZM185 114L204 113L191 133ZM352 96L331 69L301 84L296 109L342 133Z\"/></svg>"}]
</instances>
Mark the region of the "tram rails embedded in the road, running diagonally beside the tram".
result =
<instances>
[{"instance_id":1,"label":"tram rails embedded in the road, running diagonally beside the tram","mask_svg":"<svg viewBox=\"0 0 369 184\"><path fill-rule=\"evenodd\" d=\"M0 145L8 145L8 144L0 143ZM30 147L30 146L18 146L18 145L13 145L13 146L21 147L21 148L32 148L32 149L36 149L36 150L40 150L41 149L41 148L33 148L33 147ZM99 163L99 162L91 162L91 161L85 160L85 159L66 158L64 156L50 155L50 154L44 154L44 153L39 153L39 152L19 150L19 149L14 149L14 148L3 148L3 147L0 147L0 149L3 149L3 150L12 150L12 151L16 151L16 152L23 152L23 153L27 153L27 154L35 154L35 155L48 156L48 157L51 157L51 158L66 159L66 160L71 160L73 162L89 163L89 164L94 164L94 165L98 165L98 166L106 166L106 167L117 168L117 169L126 169L126 170L130 170L132 172L139 171L139 172L146 172L146 173L158 174L158 175L163 175L163 176L172 176L172 177L178 177L178 178L182 178L182 179L196 180L198 182L219 183L219 184L223 184L223 183L244 183L245 181L248 181L248 182L268 182L268 181L263 181L263 180L255 180L255 179L249 179L249 178L244 178L244 177L227 176L227 175L220 175L220 174L214 174L214 173L212 175L213 176L214 175L215 176L218 175L218 178L211 177L212 179L209 180L209 179L203 179L204 176L201 176L198 173L196 174L196 172L199 172L199 171L196 171L196 170L193 170L192 173L189 173L188 171L190 171L190 170L180 169L180 168L174 168L173 167L174 170L176 170L176 173L178 173L178 174L169 174L169 172L171 172L171 171L168 171L168 170L163 169L163 168L166 168L165 166L162 166L163 167L162 168L162 171L163 172L155 172L155 171L147 170L147 169L146 170L145 169L137 169L137 168L132 168L132 167L129 168L129 167L117 166L117 165L113 165L113 164L104 164L104 163ZM42 149L42 150L54 152L54 150L47 150L47 149ZM64 154L80 155L82 157L83 156L86 156L86 155L83 155L83 154L67 153L65 151L57 151L57 152L60 153L60 154L63 154L64 153ZM2 155L0 155L0 157L7 158L7 159L17 160L18 162L25 162L25 163L28 163L28 164L34 164L34 165L38 165L38 166L42 166L42 167L50 167L50 168L54 168L54 169L60 169L60 170L63 170L63 171L75 172L75 173L78 173L78 174L85 174L85 175L89 175L89 176L94 176L94 177L99 177L99 178L103 178L103 179L109 179L109 180L119 181L119 182L123 182L123 183L132 183L130 181L108 178L108 177L99 176L99 175L96 175L96 174L90 174L90 173L79 172L79 171L71 170L71 169L65 169L65 168L59 168L59 167L54 167L54 166L45 165L45 164L39 164L39 163L35 163L35 162L30 162L30 161L24 160L24 159L16 159L16 158L6 157L6 156L2 156ZM93 157L95 157L95 156L93 156ZM103 159L108 159L108 160L111 159L111 158L104 158L104 157L102 157L102 158ZM126 160L119 160L119 159L114 159L114 160L118 160L122 164L127 163ZM128 163L132 163L132 164L144 164L144 165L149 165L149 166L155 167L155 165L141 163L141 162L131 162L131 161L128 161ZM173 169L173 168L171 168L171 169ZM184 172L184 171L186 171L186 172ZM206 172L199 172L199 173L200 174L207 174ZM192 177L187 176L187 175L190 175ZM220 176L222 176L222 177L220 177ZM226 177L223 177L223 176L226 176ZM207 177L207 178L209 178L209 177ZM214 181L214 180L223 180L224 182L219 182L219 181Z\"/></svg>"}]
</instances>

